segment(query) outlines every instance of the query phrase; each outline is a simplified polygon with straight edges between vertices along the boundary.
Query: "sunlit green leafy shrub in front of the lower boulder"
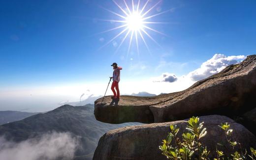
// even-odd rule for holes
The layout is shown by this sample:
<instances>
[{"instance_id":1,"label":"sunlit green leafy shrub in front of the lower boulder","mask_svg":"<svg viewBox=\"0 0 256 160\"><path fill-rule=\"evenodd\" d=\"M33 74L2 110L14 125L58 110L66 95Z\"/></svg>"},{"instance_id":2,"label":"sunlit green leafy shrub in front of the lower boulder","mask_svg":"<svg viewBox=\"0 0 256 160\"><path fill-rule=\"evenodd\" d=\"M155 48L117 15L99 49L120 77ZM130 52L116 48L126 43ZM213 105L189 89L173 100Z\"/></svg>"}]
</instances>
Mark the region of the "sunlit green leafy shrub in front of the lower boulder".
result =
<instances>
[{"instance_id":1,"label":"sunlit green leafy shrub in front of the lower boulder","mask_svg":"<svg viewBox=\"0 0 256 160\"><path fill-rule=\"evenodd\" d=\"M228 123L221 124L219 127L224 130L226 140L234 152L231 155L225 155L217 147L223 146L223 144L216 143L216 158L214 160L246 160L247 158L256 160L254 148L251 148L251 155L247 155L246 150L243 153L240 143L232 140L233 130L230 129ZM166 139L162 140L162 145L159 146L162 154L170 160L210 160L208 158L210 151L200 143L200 139L207 134L206 128L203 128L203 122L199 123L199 118L193 116L188 120L186 130L187 132L182 133L182 139L180 139L177 137L180 129L177 125L170 125L170 132ZM174 141L174 146L171 145L172 141ZM240 145L240 152L235 151L236 145Z\"/></svg>"}]
</instances>

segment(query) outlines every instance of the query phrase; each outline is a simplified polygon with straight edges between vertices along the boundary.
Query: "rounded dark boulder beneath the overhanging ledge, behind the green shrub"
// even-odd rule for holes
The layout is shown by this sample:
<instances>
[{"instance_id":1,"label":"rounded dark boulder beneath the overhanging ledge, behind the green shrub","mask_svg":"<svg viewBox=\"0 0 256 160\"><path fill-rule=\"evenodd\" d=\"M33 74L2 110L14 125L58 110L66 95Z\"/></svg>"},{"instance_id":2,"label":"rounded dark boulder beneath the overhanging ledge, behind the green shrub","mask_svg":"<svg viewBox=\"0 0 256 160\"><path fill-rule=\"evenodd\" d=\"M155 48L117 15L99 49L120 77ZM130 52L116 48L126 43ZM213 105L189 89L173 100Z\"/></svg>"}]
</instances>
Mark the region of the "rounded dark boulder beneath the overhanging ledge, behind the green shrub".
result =
<instances>
[{"instance_id":1,"label":"rounded dark boulder beneath the overhanging ledge, behind the green shrub","mask_svg":"<svg viewBox=\"0 0 256 160\"><path fill-rule=\"evenodd\" d=\"M230 124L230 128L234 130L232 138L240 142L243 149L248 151L249 147L256 147L255 135L228 117L202 116L200 122L204 122L204 127L207 128L207 134L201 138L201 142L211 151L209 155L211 159L215 156L217 142L224 144L226 149L225 147L219 149L226 155L233 153L226 142L224 131L218 127L224 122ZM170 124L176 124L180 128L178 137L186 131L187 121L182 120L129 126L105 133L98 142L93 160L166 160L166 157L161 155L159 145L170 132Z\"/></svg>"}]
</instances>

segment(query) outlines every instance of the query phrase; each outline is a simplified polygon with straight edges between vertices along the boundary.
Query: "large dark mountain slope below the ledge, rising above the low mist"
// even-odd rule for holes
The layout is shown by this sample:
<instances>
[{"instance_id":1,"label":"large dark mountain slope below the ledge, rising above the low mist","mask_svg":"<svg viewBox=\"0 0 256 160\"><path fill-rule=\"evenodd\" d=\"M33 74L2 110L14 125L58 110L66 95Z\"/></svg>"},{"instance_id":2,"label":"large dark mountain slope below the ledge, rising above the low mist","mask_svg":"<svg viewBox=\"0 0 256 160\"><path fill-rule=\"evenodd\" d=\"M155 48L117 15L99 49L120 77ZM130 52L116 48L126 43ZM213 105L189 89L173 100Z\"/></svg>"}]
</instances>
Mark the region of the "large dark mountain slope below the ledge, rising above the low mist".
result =
<instances>
[{"instance_id":1,"label":"large dark mountain slope below the ledge, rising above the low mist","mask_svg":"<svg viewBox=\"0 0 256 160\"><path fill-rule=\"evenodd\" d=\"M81 146L75 152L75 160L91 160L100 136L109 130L138 124L140 123L102 123L95 119L94 105L64 105L46 113L1 125L0 135L4 135L7 140L21 142L50 131L70 132L74 136L81 136Z\"/></svg>"}]
</instances>

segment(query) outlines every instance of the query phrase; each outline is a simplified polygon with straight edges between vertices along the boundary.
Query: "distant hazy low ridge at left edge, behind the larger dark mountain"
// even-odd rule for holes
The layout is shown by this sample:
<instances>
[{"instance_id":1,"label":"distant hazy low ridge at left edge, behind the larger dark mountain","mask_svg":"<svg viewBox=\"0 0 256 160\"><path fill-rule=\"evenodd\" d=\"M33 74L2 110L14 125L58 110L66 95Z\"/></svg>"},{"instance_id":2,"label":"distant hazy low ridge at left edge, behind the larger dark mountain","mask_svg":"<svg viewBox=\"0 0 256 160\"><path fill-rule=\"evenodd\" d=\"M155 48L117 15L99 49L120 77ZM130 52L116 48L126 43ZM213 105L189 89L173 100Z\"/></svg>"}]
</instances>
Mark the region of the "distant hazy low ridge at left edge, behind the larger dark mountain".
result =
<instances>
[{"instance_id":1,"label":"distant hazy low ridge at left edge, behind the larger dark mountain","mask_svg":"<svg viewBox=\"0 0 256 160\"><path fill-rule=\"evenodd\" d=\"M21 112L12 110L0 111L0 125L14 121L19 121L38 113L39 112Z\"/></svg>"}]
</instances>

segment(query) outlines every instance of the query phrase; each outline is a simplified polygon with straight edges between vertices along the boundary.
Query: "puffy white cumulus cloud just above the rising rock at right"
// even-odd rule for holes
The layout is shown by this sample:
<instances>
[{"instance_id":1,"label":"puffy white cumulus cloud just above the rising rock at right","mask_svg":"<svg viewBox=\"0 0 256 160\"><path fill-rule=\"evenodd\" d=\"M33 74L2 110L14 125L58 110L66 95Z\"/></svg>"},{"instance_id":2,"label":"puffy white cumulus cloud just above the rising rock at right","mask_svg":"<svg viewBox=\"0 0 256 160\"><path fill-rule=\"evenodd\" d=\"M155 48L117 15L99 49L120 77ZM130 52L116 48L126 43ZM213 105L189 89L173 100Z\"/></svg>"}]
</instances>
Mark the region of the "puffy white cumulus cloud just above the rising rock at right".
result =
<instances>
[{"instance_id":1,"label":"puffy white cumulus cloud just above the rising rock at right","mask_svg":"<svg viewBox=\"0 0 256 160\"><path fill-rule=\"evenodd\" d=\"M215 54L211 59L203 62L200 68L190 72L188 77L193 81L202 80L221 72L228 65L240 63L245 58L245 55Z\"/></svg>"}]
</instances>

